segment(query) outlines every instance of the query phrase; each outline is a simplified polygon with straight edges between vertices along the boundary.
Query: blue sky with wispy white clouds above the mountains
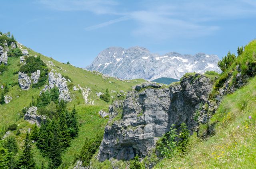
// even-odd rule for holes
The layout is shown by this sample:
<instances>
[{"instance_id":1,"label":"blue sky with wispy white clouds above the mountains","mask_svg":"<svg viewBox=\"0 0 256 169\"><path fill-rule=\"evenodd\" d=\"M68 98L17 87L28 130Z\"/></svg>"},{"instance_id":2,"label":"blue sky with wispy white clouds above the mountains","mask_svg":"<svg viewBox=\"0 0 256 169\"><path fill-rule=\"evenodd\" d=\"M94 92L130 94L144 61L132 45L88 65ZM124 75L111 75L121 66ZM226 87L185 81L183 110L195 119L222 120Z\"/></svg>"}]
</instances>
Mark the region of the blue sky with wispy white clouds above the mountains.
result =
<instances>
[{"instance_id":1,"label":"blue sky with wispy white clouds above the mountains","mask_svg":"<svg viewBox=\"0 0 256 169\"><path fill-rule=\"evenodd\" d=\"M256 0L0 0L0 31L86 67L110 46L222 58L256 38Z\"/></svg>"}]
</instances>

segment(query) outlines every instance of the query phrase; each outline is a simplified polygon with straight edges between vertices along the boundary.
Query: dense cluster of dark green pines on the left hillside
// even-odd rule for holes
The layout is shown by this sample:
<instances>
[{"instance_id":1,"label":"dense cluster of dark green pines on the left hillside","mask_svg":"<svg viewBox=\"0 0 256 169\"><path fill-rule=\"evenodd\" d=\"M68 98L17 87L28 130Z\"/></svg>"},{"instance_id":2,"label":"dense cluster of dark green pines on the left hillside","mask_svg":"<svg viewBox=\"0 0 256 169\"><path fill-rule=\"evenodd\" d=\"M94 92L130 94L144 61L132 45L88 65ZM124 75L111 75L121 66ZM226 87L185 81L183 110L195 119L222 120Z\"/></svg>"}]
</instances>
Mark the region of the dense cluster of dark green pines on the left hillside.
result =
<instances>
[{"instance_id":1,"label":"dense cluster of dark green pines on the left hillside","mask_svg":"<svg viewBox=\"0 0 256 169\"><path fill-rule=\"evenodd\" d=\"M61 100L56 110L56 116L52 117L52 120L47 118L40 129L35 125L31 133L31 138L37 141L36 145L42 155L51 159L50 168L61 164L62 151L70 145L71 139L78 135L75 107L69 113L66 103Z\"/></svg>"}]
</instances>

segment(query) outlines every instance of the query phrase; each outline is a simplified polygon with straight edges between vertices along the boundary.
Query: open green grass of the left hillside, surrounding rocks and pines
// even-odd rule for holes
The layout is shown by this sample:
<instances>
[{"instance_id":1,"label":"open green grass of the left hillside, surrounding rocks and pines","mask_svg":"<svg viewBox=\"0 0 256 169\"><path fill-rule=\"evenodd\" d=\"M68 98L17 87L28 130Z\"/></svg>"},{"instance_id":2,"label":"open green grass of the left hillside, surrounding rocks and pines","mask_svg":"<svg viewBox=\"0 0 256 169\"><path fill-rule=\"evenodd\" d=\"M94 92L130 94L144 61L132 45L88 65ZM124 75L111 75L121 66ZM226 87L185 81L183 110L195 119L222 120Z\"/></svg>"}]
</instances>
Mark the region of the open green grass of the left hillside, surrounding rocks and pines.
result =
<instances>
[{"instance_id":1,"label":"open green grass of the left hillside, surrounding rocks and pines","mask_svg":"<svg viewBox=\"0 0 256 169\"><path fill-rule=\"evenodd\" d=\"M101 118L98 115L98 112L101 109L108 110L108 106L111 104L111 100L108 103L101 100L96 96L96 92L104 93L108 88L110 96L115 96L120 92L120 90L127 91L131 88L131 86L141 83L144 80L137 79L131 81L121 81L112 77L104 77L102 74L97 72L86 71L72 65L60 63L52 58L46 57L40 53L36 53L35 51L25 46L22 46L22 48L28 49L30 56L40 56L40 58L47 64L49 70L55 69L56 72L61 73L63 76L69 77L69 79L72 81L67 82L69 91L71 93L70 96L72 98L72 102L68 102L67 104L67 109L72 110L73 106L76 106L80 131L78 137L72 140L71 146L68 147L68 149L66 149L66 151L64 151L62 154L62 165L60 168L66 168L72 165L74 155L80 152L86 137L91 138L98 133L102 134L104 132L104 127L108 121L108 118ZM54 65L51 65L49 61ZM8 70L0 74L0 85L7 84L9 91L6 94L12 96L12 101L10 103L0 104L0 128L5 130L5 128L10 124L18 124L18 129L20 129L21 134L16 136L17 130L11 131L11 135L15 136L19 145L19 151L16 157L18 157L22 151L22 145L26 131L28 128L32 128L33 126L26 122L23 117L20 118L21 110L22 108L29 106L32 100L32 96L37 98L39 92L42 90L42 88L44 88L43 86L40 88L30 87L30 89L27 91L21 90L20 86L18 85L18 74L14 73L19 70L21 66L19 63L19 57L8 57ZM77 87L80 85L84 89L90 88L87 103L85 102L81 91L73 91L74 85ZM1 92L2 91L3 89ZM33 145L33 154L34 160L36 161L38 167L42 161L44 161L47 165L48 159L44 159L42 157L40 151L36 148L35 145Z\"/></svg>"}]
</instances>

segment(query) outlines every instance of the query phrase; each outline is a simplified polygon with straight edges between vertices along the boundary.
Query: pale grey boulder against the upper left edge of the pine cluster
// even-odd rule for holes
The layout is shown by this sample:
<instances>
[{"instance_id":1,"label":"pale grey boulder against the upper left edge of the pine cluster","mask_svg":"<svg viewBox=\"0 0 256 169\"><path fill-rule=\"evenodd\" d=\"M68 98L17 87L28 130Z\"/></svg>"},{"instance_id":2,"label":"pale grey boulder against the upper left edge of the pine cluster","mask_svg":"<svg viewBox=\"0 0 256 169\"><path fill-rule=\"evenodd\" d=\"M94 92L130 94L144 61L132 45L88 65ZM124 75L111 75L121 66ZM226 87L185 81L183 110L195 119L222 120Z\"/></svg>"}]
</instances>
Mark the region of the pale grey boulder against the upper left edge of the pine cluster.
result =
<instances>
[{"instance_id":1,"label":"pale grey boulder against the upper left edge of the pine cluster","mask_svg":"<svg viewBox=\"0 0 256 169\"><path fill-rule=\"evenodd\" d=\"M38 115L37 114L37 107L32 106L28 109L24 116L24 120L28 121L30 124L35 124L40 126L41 122L46 119L46 116Z\"/></svg>"}]
</instances>

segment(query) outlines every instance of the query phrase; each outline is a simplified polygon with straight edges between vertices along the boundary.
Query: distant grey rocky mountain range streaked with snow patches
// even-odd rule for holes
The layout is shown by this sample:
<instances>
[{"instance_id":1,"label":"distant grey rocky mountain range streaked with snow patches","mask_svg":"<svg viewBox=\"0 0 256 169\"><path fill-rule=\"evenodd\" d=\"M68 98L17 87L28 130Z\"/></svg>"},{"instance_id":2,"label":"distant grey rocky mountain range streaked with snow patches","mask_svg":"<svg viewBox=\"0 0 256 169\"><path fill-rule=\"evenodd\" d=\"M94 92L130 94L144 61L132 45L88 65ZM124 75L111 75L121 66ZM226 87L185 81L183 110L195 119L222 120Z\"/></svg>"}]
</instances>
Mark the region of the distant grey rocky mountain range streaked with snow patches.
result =
<instances>
[{"instance_id":1,"label":"distant grey rocky mountain range streaked with snow patches","mask_svg":"<svg viewBox=\"0 0 256 169\"><path fill-rule=\"evenodd\" d=\"M146 79L161 77L180 79L185 73L205 71L221 72L217 55L197 53L182 55L176 52L159 55L144 47L109 47L100 52L92 64L86 67L105 75L121 79Z\"/></svg>"}]
</instances>

